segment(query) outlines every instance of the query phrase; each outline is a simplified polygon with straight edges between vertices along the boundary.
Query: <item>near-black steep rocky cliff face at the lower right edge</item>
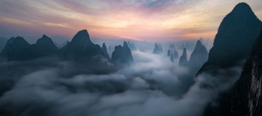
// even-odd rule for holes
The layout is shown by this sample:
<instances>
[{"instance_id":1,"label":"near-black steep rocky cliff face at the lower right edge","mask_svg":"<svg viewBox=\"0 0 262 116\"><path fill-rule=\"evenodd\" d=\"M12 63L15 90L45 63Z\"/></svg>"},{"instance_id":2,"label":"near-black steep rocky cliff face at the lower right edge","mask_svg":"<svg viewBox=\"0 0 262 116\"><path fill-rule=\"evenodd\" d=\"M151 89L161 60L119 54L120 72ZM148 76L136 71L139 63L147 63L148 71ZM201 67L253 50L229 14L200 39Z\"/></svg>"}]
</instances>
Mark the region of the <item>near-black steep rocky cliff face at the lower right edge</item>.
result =
<instances>
[{"instance_id":1,"label":"near-black steep rocky cliff face at the lower right edge","mask_svg":"<svg viewBox=\"0 0 262 116\"><path fill-rule=\"evenodd\" d=\"M262 31L247 60L240 79L228 95L228 115L262 115ZM224 104L222 104L224 105Z\"/></svg>"}]
</instances>

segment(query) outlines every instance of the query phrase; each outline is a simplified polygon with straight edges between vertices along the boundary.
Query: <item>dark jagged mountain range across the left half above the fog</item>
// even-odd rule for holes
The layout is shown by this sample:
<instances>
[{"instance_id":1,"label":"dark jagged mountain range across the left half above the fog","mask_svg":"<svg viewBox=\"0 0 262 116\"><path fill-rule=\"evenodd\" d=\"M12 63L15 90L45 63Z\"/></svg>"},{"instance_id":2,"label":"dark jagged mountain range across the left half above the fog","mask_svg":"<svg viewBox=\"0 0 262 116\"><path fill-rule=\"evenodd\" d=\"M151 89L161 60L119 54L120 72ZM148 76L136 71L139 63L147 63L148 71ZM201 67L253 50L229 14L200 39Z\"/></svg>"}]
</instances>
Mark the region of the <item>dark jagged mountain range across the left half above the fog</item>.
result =
<instances>
[{"instance_id":1,"label":"dark jagged mountain range across the left half above the fog","mask_svg":"<svg viewBox=\"0 0 262 116\"><path fill-rule=\"evenodd\" d=\"M63 48L57 49L52 39L46 35L39 38L35 44L30 45L22 37L12 37L1 52L8 61L22 61L40 57L61 57L66 60L85 63L97 63L102 59L111 61L105 43L102 48L95 45L89 38L87 30L78 31L71 42L67 42ZM130 64L133 61L131 50L126 42L115 47L112 55L112 63L115 65Z\"/></svg>"}]
</instances>

